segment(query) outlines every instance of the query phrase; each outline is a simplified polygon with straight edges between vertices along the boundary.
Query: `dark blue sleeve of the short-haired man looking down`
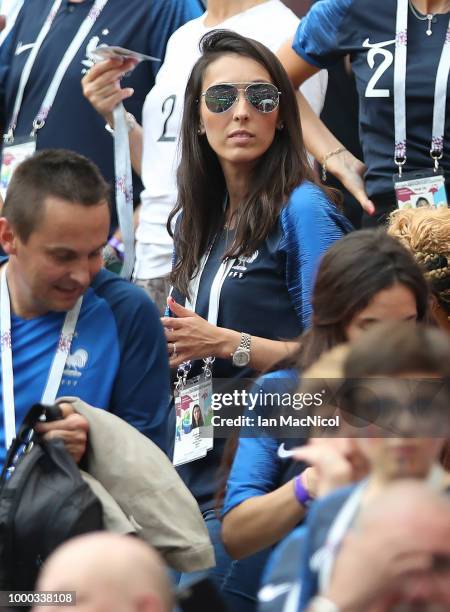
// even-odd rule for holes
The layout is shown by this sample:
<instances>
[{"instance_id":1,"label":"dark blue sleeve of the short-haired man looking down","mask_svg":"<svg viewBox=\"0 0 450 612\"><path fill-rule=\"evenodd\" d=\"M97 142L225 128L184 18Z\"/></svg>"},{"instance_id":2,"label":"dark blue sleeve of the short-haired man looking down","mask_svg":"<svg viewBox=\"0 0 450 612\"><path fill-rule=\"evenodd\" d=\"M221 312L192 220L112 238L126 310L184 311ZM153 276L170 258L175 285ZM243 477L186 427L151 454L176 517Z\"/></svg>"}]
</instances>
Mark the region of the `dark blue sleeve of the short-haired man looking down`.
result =
<instances>
[{"instance_id":1,"label":"dark blue sleeve of the short-haired man looking down","mask_svg":"<svg viewBox=\"0 0 450 612\"><path fill-rule=\"evenodd\" d=\"M170 402L169 363L159 312L145 291L127 281L108 282L102 271L93 283L114 314L120 363L109 409L155 442L169 448L167 422ZM96 286L98 277L103 282Z\"/></svg>"}]
</instances>

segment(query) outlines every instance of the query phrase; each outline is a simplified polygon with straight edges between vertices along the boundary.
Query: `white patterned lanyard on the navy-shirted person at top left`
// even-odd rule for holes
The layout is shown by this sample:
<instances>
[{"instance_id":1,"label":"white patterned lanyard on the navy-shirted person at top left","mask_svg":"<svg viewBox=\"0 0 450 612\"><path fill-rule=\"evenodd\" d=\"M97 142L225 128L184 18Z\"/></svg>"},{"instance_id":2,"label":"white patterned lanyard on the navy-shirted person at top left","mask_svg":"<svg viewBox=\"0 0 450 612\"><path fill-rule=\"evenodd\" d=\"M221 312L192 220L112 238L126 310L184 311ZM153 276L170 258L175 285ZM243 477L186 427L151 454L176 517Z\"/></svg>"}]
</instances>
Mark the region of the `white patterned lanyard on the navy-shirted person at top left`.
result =
<instances>
[{"instance_id":1,"label":"white patterned lanyard on the navy-shirted person at top left","mask_svg":"<svg viewBox=\"0 0 450 612\"><path fill-rule=\"evenodd\" d=\"M41 31L39 32L36 38L36 42L34 43L33 49L31 50L30 55L28 56L28 59L25 63L25 66L23 67L22 74L20 76L19 87L17 89L16 99L14 101L14 107L8 132L4 136L6 144L12 144L14 142L14 130L16 129L17 118L22 107L23 96L25 93L25 88L28 84L28 79L30 78L30 74L36 61L37 54L39 53L42 43L44 42L44 39L51 28L56 14L58 13L59 7L61 6L61 2L62 0L54 1L50 12L44 22L44 25L42 26ZM83 41L85 40L86 36L91 31L92 27L94 26L94 23L96 22L97 18L99 17L107 2L108 0L95 1L94 6L89 11L87 17L83 20L82 24L78 29L78 32L75 34L75 37L73 38L72 42L64 53L64 56L58 66L58 69L56 70L53 79L49 85L48 91L41 104L38 114L36 115L33 121L33 130L31 132L32 136L36 134L37 130L44 127L45 121L58 93L59 86L61 85L61 81L63 80L64 75L66 74L67 69L69 68L69 65L71 64L73 58L77 54L81 45L83 44Z\"/></svg>"}]
</instances>

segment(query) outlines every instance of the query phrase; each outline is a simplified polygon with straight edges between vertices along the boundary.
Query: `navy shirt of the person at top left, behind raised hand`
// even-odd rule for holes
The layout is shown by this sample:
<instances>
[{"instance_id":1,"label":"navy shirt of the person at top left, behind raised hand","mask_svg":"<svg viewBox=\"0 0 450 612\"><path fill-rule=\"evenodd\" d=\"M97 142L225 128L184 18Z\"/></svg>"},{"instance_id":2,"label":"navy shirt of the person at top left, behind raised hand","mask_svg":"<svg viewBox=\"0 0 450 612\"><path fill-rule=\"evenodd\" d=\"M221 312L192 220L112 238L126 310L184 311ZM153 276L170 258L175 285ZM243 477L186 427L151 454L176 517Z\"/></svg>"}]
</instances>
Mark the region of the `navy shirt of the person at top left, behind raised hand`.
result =
<instances>
[{"instance_id":1,"label":"navy shirt of the person at top left, behind raised hand","mask_svg":"<svg viewBox=\"0 0 450 612\"><path fill-rule=\"evenodd\" d=\"M20 76L39 31L54 0L24 3L0 56L0 119L6 130L11 118ZM27 136L43 102L48 86L69 43L91 10L94 0L63 0L31 71L18 117L15 135ZM160 62L141 62L124 87L134 94L125 107L141 121L145 97L155 82L172 33L186 21L199 17L199 0L109 0L78 53L72 60L58 90L45 126L38 131L37 148L64 148L92 159L103 176L114 182L113 140L105 130L105 120L84 98L81 79L93 65L90 51L99 45L116 45L159 58ZM135 197L142 185L136 182Z\"/></svg>"}]
</instances>

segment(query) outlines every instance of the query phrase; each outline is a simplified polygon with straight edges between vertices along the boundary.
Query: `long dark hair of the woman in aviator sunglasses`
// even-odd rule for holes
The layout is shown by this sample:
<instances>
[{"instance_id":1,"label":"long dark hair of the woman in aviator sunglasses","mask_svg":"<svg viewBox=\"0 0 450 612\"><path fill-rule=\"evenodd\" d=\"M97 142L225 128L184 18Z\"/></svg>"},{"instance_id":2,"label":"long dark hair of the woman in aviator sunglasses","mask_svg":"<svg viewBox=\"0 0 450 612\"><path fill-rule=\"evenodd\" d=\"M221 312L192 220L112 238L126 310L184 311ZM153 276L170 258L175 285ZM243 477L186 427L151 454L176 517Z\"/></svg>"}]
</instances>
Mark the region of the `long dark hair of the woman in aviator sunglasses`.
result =
<instances>
[{"instance_id":1,"label":"long dark hair of the woman in aviator sunglasses","mask_svg":"<svg viewBox=\"0 0 450 612\"><path fill-rule=\"evenodd\" d=\"M236 218L235 238L224 259L251 255L275 225L295 187L305 179L315 182L303 145L295 93L275 55L263 44L229 30L206 34L200 41L200 49L202 56L193 67L186 87L178 200L167 224L173 235L172 220L182 211L175 236L177 263L171 280L185 296L201 257L224 223L226 185L222 168L207 138L198 133L203 75L212 62L233 53L264 66L281 92L279 119L283 124L254 168L247 198Z\"/></svg>"}]
</instances>

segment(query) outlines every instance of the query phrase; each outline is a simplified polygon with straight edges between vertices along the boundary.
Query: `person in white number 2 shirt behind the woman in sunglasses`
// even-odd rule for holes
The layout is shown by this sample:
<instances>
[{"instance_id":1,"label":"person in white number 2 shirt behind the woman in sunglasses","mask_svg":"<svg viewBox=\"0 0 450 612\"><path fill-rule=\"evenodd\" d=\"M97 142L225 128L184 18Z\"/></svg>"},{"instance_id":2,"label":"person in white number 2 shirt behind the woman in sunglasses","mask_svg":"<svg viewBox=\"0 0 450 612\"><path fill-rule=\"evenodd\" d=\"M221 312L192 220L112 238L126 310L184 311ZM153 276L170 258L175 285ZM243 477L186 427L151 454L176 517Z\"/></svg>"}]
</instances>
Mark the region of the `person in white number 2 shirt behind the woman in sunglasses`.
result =
<instances>
[{"instance_id":1,"label":"person in white number 2 shirt behind the woman in sunglasses","mask_svg":"<svg viewBox=\"0 0 450 612\"><path fill-rule=\"evenodd\" d=\"M169 40L155 86L145 99L142 127L137 122L129 125L131 161L144 185L136 230L134 278L161 313L170 289L173 242L166 223L177 200L183 100L189 74L200 57L200 39L212 29L227 29L255 38L275 51L289 33L295 33L299 23L281 0L208 0L203 4L207 4L206 12L188 21ZM129 83L127 86L129 79L120 80L132 64L132 60L100 62L82 80L85 96L110 125L112 111L120 101L125 100L127 110L133 110L135 95ZM317 114L322 109L326 87L325 70L302 87Z\"/></svg>"}]
</instances>

